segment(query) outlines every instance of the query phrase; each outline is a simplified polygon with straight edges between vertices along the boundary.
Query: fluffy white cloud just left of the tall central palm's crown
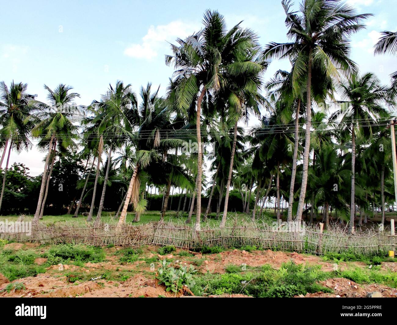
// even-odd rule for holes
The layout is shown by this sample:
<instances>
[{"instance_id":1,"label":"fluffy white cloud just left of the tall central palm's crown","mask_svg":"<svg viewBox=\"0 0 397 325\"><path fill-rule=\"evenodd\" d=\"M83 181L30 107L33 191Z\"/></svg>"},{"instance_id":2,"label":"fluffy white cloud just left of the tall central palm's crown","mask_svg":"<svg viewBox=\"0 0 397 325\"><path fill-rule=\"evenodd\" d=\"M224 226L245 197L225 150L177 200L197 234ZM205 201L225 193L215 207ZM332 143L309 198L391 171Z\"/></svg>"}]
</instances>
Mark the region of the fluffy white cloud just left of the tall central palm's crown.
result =
<instances>
[{"instance_id":1,"label":"fluffy white cloud just left of the tall central palm's crown","mask_svg":"<svg viewBox=\"0 0 397 325\"><path fill-rule=\"evenodd\" d=\"M184 38L198 31L200 27L195 24L182 21L172 21L167 25L150 26L147 34L140 44L130 44L125 48L124 54L132 58L152 60L160 50L164 52L168 48L168 42L174 42L176 38Z\"/></svg>"}]
</instances>

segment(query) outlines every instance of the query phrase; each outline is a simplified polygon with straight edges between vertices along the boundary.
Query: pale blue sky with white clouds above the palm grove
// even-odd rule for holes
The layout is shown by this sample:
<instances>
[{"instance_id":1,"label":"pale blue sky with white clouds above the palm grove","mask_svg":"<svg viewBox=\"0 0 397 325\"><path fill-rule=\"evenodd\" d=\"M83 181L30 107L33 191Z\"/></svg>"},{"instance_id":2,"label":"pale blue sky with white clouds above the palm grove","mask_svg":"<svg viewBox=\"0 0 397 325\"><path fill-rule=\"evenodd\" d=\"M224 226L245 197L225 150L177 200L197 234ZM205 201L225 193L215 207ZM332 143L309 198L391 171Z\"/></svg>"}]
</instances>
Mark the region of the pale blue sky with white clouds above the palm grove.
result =
<instances>
[{"instance_id":1,"label":"pale blue sky with white clouds above the palm grove","mask_svg":"<svg viewBox=\"0 0 397 325\"><path fill-rule=\"evenodd\" d=\"M383 30L396 31L395 0L348 0L361 13L374 13L367 29L352 37L352 58L362 72L372 71L382 82L397 70L397 59L373 56L372 46ZM299 1L296 1L298 4ZM281 1L19 1L2 4L0 80L28 83L29 93L46 100L50 88L65 83L81 94L87 105L116 80L130 83L136 92L148 81L164 94L172 68L164 54L168 42L198 31L204 10L218 10L229 27L256 31L260 43L287 40ZM289 62L272 62L265 77ZM255 123L255 121L251 121ZM23 162L31 174L42 172L43 153L13 153L10 162Z\"/></svg>"}]
</instances>

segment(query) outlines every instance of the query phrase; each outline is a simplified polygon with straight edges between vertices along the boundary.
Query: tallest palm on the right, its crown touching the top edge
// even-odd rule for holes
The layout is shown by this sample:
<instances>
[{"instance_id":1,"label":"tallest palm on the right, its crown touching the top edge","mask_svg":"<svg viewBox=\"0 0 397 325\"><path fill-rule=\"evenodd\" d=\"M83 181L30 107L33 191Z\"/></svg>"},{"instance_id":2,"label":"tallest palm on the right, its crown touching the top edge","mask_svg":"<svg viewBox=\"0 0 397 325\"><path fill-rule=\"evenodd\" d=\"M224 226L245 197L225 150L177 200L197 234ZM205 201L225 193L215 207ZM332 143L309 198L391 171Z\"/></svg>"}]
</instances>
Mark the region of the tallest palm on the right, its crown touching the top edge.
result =
<instances>
[{"instance_id":1,"label":"tallest palm on the right, its crown touching the top edge","mask_svg":"<svg viewBox=\"0 0 397 325\"><path fill-rule=\"evenodd\" d=\"M318 69L323 78L339 77L339 71L355 70L349 58L349 36L365 26L361 23L371 14L357 14L348 4L338 0L303 0L298 12L292 11L291 0L281 2L285 14L287 36L293 42L271 42L264 50L265 58L289 58L294 62L292 83L295 96L306 84L306 130L303 154L301 193L297 220L302 219L306 196L310 153L312 109L312 69Z\"/></svg>"}]
</instances>

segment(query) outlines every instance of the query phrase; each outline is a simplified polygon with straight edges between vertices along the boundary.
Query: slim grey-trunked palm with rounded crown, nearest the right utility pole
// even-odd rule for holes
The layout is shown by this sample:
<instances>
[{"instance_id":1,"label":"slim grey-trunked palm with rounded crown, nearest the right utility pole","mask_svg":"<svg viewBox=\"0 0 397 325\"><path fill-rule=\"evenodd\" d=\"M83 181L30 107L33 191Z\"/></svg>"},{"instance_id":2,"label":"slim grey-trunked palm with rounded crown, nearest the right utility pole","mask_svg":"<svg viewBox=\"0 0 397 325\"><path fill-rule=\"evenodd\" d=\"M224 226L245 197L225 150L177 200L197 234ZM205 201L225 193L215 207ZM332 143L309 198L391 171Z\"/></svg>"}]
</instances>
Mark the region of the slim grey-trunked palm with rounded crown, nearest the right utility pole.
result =
<instances>
[{"instance_id":1,"label":"slim grey-trunked palm with rounded crown, nearest the right utility pole","mask_svg":"<svg viewBox=\"0 0 397 325\"><path fill-rule=\"evenodd\" d=\"M354 232L355 218L355 158L356 137L370 137L372 127L377 119L385 113L381 105L387 97L387 87L380 84L373 73L359 75L354 73L341 83L339 94L343 100L338 101L341 109L330 116L330 121L341 119L340 125L351 134L351 203L350 231Z\"/></svg>"}]
</instances>

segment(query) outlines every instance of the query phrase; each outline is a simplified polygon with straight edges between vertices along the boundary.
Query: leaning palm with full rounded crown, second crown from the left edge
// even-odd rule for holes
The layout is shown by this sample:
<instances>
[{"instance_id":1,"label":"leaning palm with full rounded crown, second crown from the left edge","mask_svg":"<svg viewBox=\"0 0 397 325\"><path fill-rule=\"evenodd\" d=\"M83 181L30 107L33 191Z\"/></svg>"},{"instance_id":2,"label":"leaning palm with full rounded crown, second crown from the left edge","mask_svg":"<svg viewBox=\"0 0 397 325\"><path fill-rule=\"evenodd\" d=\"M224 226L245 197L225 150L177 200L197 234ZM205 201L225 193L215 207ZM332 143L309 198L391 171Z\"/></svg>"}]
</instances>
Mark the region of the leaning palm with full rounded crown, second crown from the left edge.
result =
<instances>
[{"instance_id":1,"label":"leaning palm with full rounded crown, second crown from the left edge","mask_svg":"<svg viewBox=\"0 0 397 325\"><path fill-rule=\"evenodd\" d=\"M77 106L74 100L80 97L76 92L71 92L73 88L64 84L58 85L54 90L44 85L47 90L48 104L35 101L36 112L25 119L26 123L33 121L35 127L32 129L32 136L39 138L39 148L45 149L48 146L48 154L44 163L44 172L41 181L39 200L33 222L37 223L44 201L48 177L48 163L52 154L56 151L59 144L61 148L68 148L75 145L77 139L76 124L79 122L82 106Z\"/></svg>"}]
</instances>

